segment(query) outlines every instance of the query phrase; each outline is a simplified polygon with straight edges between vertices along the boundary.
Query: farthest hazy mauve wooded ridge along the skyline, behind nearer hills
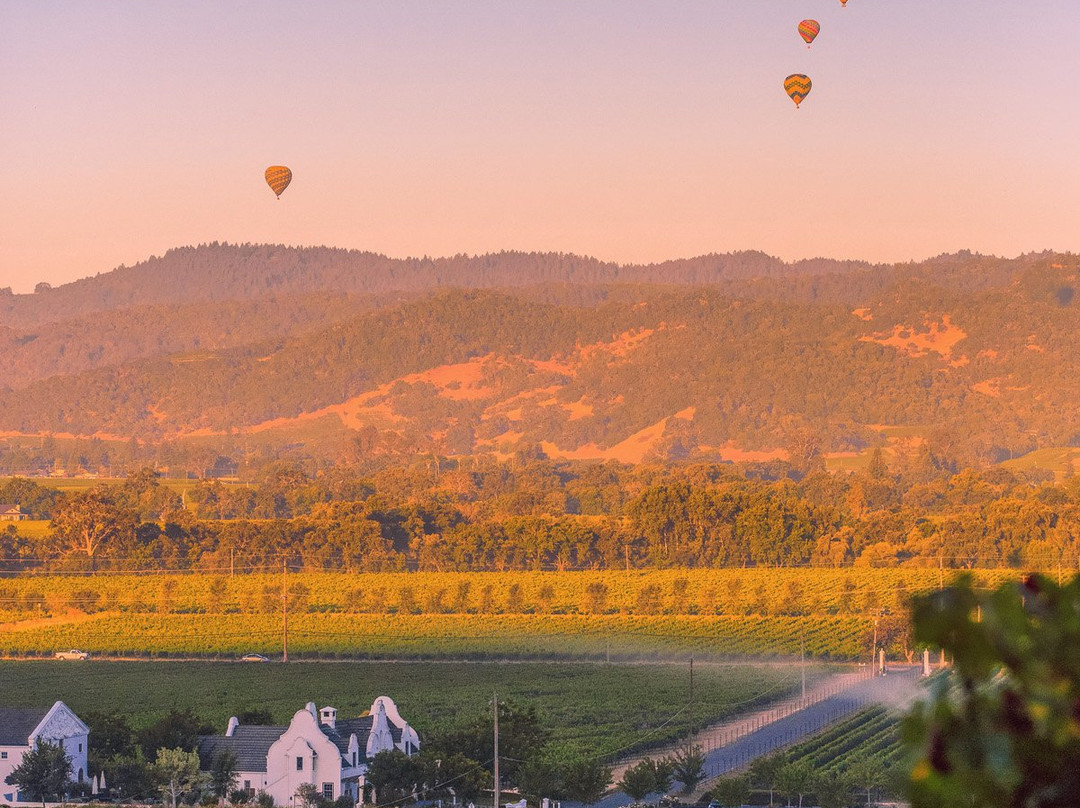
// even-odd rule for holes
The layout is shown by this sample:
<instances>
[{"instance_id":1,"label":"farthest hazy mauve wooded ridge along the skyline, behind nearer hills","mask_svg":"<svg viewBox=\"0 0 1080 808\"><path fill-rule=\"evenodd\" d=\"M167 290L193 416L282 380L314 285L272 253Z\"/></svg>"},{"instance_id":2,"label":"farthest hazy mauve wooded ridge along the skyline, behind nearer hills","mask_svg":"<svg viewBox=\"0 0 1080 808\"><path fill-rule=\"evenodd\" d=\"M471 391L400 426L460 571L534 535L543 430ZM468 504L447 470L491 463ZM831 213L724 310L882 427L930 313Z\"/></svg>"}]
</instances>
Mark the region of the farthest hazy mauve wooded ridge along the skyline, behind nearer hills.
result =
<instances>
[{"instance_id":1,"label":"farthest hazy mauve wooded ridge along the skyline, behind nearer hills","mask_svg":"<svg viewBox=\"0 0 1080 808\"><path fill-rule=\"evenodd\" d=\"M815 259L787 265L757 252L707 255L650 266L620 266L562 253L388 258L329 247L204 244L170 250L134 267L32 295L0 296L0 325L46 322L140 306L177 306L267 296L338 292L378 295L435 288L495 288L545 283L704 284L791 274L867 270L859 261Z\"/></svg>"}]
</instances>

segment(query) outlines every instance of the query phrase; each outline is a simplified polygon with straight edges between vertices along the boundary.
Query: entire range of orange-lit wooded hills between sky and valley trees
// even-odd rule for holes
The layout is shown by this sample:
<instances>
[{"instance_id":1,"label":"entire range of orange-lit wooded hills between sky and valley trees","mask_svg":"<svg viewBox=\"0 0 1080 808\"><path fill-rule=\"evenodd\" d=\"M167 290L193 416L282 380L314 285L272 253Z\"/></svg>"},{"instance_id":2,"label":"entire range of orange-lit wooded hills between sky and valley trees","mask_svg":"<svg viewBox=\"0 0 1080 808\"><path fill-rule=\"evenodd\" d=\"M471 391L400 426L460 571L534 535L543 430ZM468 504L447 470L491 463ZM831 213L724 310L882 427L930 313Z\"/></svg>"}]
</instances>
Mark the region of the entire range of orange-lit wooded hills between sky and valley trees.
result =
<instances>
[{"instance_id":1,"label":"entire range of orange-lit wooded hills between sky and valley trees","mask_svg":"<svg viewBox=\"0 0 1080 808\"><path fill-rule=\"evenodd\" d=\"M3 299L0 431L335 462L981 464L1080 445L1077 267L184 248Z\"/></svg>"}]
</instances>

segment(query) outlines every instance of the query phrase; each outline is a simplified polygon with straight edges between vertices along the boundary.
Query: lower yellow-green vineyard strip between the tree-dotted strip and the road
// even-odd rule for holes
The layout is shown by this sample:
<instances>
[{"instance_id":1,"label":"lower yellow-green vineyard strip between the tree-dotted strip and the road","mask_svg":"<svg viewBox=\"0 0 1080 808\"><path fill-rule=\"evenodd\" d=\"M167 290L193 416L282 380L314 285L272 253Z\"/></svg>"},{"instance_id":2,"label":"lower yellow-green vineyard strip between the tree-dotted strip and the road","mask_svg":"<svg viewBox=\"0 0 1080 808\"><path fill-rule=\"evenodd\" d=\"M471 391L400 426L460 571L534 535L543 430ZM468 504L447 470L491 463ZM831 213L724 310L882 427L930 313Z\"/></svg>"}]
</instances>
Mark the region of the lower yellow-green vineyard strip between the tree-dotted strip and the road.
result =
<instances>
[{"instance_id":1,"label":"lower yellow-green vineyard strip between the tree-dotted strip and the road","mask_svg":"<svg viewBox=\"0 0 1080 808\"><path fill-rule=\"evenodd\" d=\"M288 621L293 659L858 660L873 622L853 617L593 615L335 615ZM281 656L281 616L94 615L28 621L0 631L0 655L52 656L79 647L96 656L232 659Z\"/></svg>"}]
</instances>

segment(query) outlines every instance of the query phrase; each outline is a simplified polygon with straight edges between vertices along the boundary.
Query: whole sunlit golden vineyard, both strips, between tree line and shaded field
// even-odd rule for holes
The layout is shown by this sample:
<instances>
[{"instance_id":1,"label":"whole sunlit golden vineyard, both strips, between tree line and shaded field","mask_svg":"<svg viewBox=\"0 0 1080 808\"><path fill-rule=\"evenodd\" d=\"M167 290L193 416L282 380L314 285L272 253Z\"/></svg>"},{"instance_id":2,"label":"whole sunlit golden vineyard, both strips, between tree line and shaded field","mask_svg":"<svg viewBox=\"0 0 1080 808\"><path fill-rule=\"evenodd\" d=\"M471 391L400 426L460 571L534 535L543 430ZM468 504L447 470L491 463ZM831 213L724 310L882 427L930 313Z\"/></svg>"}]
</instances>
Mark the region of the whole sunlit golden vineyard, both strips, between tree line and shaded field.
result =
<instances>
[{"instance_id":1,"label":"whole sunlit golden vineyard, both strips, between tree line and shaded field","mask_svg":"<svg viewBox=\"0 0 1080 808\"><path fill-rule=\"evenodd\" d=\"M981 585L1017 575L975 574ZM936 569L289 574L294 657L791 658L905 654L907 600ZM282 576L22 576L0 581L0 655L280 654Z\"/></svg>"}]
</instances>

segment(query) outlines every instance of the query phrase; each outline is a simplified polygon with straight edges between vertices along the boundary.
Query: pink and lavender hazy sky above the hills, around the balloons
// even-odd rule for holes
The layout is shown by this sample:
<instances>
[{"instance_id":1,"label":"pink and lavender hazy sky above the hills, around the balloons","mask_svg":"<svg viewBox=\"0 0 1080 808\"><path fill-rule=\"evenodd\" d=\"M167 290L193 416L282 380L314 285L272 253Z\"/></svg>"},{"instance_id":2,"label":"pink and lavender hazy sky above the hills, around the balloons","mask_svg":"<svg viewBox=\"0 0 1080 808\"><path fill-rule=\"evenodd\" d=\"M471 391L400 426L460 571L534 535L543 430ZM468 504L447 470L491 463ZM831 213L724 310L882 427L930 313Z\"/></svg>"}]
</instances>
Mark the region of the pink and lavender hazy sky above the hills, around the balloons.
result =
<instances>
[{"instance_id":1,"label":"pink and lavender hazy sky above the hills, around the balloons","mask_svg":"<svg viewBox=\"0 0 1080 808\"><path fill-rule=\"evenodd\" d=\"M1078 37L1078 0L0 0L0 286L215 240L1080 251Z\"/></svg>"}]
</instances>

